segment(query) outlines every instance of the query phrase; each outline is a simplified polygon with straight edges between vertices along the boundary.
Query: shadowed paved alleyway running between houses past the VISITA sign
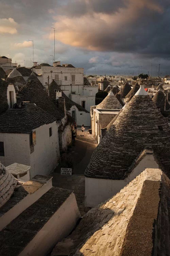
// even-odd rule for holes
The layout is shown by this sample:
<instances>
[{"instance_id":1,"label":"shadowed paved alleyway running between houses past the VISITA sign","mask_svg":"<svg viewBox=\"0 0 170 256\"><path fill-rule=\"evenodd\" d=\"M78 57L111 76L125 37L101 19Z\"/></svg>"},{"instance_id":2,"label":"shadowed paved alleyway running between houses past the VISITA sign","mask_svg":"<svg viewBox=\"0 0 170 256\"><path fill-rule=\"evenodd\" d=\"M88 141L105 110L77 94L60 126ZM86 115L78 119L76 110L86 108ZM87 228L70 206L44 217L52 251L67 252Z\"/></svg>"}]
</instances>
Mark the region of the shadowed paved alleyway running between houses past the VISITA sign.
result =
<instances>
[{"instance_id":1,"label":"shadowed paved alleyway running between houses past the VISITA sign","mask_svg":"<svg viewBox=\"0 0 170 256\"><path fill-rule=\"evenodd\" d=\"M69 153L73 159L73 175L61 175L61 166L55 169L53 175L53 186L72 189L75 194L75 198L78 203L79 211L81 215L84 215L89 209L84 208L84 196L85 196L85 177L84 172L90 161L91 155L95 150L97 144L92 138L92 135L88 133L88 129L85 130L84 136L81 136L81 128L77 130L77 138L75 145L71 147Z\"/></svg>"}]
</instances>

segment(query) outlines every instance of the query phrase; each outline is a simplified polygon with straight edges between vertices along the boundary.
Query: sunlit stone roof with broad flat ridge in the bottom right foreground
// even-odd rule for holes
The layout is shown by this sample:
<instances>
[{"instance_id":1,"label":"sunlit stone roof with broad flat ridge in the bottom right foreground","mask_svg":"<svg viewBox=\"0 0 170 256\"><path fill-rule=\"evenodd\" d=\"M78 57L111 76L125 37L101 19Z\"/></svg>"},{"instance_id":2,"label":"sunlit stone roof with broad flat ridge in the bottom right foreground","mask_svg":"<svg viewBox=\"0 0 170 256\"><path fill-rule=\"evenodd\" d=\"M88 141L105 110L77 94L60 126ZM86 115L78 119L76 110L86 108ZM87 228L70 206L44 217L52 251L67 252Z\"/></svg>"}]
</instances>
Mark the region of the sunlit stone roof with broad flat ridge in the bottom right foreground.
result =
<instances>
[{"instance_id":1,"label":"sunlit stone roof with broad flat ridge in the bottom right foreground","mask_svg":"<svg viewBox=\"0 0 170 256\"><path fill-rule=\"evenodd\" d=\"M168 256L169 198L169 178L159 169L147 168L88 211L51 256Z\"/></svg>"}]
</instances>

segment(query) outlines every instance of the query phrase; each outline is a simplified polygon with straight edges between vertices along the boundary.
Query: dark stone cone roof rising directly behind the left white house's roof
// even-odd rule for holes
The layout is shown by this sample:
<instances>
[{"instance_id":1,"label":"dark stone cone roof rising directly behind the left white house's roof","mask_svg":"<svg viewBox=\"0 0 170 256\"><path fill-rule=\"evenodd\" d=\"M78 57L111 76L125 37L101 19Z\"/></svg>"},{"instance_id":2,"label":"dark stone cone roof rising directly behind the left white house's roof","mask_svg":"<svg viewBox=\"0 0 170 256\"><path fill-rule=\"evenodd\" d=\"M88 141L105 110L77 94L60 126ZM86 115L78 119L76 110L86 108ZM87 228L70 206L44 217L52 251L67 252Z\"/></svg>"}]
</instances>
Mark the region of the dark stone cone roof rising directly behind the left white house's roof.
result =
<instances>
[{"instance_id":1,"label":"dark stone cone roof rising directly behind the left white house's roof","mask_svg":"<svg viewBox=\"0 0 170 256\"><path fill-rule=\"evenodd\" d=\"M37 80L29 80L26 85L18 91L17 103L21 101L30 101L30 103L35 103L41 109L49 112L53 115L56 120L60 120L64 117L64 113L61 112L54 102L48 97L47 93L43 90L42 84Z\"/></svg>"}]
</instances>

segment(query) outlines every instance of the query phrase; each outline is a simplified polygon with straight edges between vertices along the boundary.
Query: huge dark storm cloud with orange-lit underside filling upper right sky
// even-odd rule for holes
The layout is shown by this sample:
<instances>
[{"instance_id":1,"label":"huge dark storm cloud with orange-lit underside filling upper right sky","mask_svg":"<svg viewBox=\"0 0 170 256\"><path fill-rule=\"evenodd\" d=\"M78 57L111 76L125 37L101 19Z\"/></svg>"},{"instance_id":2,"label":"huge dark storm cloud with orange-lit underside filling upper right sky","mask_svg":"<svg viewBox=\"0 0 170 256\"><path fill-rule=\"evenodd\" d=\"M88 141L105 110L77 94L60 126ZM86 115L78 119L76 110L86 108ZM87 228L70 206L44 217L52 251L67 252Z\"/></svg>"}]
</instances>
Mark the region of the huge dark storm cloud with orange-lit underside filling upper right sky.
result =
<instances>
[{"instance_id":1,"label":"huge dark storm cloud with orange-lit underside filling upper right sky","mask_svg":"<svg viewBox=\"0 0 170 256\"><path fill-rule=\"evenodd\" d=\"M74 0L59 10L56 27L63 43L97 51L170 54L167 0Z\"/></svg>"}]
</instances>

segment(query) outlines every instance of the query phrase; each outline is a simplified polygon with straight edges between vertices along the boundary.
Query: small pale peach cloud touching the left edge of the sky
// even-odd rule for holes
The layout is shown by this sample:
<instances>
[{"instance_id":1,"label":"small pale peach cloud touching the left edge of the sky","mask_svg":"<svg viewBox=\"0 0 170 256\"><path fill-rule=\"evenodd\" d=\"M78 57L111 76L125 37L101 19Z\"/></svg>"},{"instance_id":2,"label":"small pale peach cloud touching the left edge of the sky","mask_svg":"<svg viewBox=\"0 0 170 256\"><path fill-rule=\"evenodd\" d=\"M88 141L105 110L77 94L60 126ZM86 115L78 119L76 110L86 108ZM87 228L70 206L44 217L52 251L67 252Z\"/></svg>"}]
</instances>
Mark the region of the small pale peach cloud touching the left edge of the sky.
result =
<instances>
[{"instance_id":1,"label":"small pale peach cloud touching the left edge of the sky","mask_svg":"<svg viewBox=\"0 0 170 256\"><path fill-rule=\"evenodd\" d=\"M0 33L9 33L9 34L16 34L17 33L17 23L14 21L13 18L4 18L0 19Z\"/></svg>"}]
</instances>

